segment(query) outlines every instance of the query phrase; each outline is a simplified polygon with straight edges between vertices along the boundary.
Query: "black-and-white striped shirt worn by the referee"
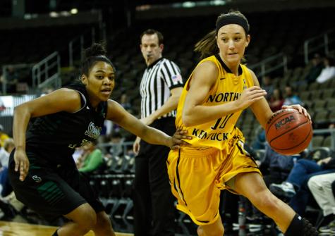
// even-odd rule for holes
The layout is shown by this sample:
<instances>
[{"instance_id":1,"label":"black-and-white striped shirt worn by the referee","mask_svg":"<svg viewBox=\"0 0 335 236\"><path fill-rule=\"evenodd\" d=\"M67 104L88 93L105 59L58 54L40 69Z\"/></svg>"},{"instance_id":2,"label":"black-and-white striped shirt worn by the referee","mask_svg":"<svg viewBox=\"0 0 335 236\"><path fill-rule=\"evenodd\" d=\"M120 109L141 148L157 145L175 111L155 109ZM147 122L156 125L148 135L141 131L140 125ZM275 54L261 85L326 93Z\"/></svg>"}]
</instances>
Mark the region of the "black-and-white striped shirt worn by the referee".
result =
<instances>
[{"instance_id":1,"label":"black-and-white striped shirt worn by the referee","mask_svg":"<svg viewBox=\"0 0 335 236\"><path fill-rule=\"evenodd\" d=\"M181 70L176 63L166 58L159 58L145 69L140 83L141 118L150 116L164 105L171 96L170 90L183 87ZM162 117L176 117L176 110Z\"/></svg>"}]
</instances>

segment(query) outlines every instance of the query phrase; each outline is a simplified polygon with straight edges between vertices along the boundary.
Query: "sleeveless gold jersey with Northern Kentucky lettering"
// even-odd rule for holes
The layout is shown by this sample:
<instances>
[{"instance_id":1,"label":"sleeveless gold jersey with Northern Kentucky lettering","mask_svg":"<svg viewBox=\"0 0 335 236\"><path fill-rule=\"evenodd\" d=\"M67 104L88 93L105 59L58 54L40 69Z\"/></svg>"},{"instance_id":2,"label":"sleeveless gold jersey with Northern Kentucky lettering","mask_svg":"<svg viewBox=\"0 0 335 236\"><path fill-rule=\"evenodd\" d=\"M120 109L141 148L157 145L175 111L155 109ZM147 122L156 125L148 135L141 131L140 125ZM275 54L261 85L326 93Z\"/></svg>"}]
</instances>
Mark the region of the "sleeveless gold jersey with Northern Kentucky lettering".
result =
<instances>
[{"instance_id":1,"label":"sleeveless gold jersey with Northern Kentucky lettering","mask_svg":"<svg viewBox=\"0 0 335 236\"><path fill-rule=\"evenodd\" d=\"M214 62L219 69L219 74L217 82L209 91L207 97L205 97L205 100L202 103L203 106L217 106L219 104L226 104L228 102L235 101L238 97L240 97L240 94L244 89L254 85L250 70L242 64L240 64L238 68L239 75L236 76L231 73L231 70L224 64L219 55L209 56L200 61L197 66L204 61ZM193 139L185 141L192 144L192 147L195 149L202 149L206 147L214 147L220 150L226 149L229 147L229 141L233 135L240 133L239 130L234 130L234 128L242 111L231 113L217 120L211 120L200 125L185 126L181 116L183 113L182 111L185 103L185 97L188 94L189 82L193 77L193 73L188 78L178 103L176 127L188 130L188 135L191 135Z\"/></svg>"}]
</instances>

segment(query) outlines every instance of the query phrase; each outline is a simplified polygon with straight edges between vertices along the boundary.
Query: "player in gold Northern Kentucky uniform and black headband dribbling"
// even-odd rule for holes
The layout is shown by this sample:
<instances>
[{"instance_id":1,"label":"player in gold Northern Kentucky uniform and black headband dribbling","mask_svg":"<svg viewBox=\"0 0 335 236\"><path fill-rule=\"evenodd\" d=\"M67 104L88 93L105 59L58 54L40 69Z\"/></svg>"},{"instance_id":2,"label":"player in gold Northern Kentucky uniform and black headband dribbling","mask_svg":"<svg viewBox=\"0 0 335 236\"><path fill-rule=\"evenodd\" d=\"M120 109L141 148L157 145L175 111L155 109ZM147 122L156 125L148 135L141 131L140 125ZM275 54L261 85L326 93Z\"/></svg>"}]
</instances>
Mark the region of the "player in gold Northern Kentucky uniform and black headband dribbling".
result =
<instances>
[{"instance_id":1,"label":"player in gold Northern Kentucky uniform and black headband dribbling","mask_svg":"<svg viewBox=\"0 0 335 236\"><path fill-rule=\"evenodd\" d=\"M243 149L236 128L250 107L263 128L273 113L267 94L252 70L241 64L250 43L248 20L239 11L219 15L216 30L195 45L202 58L183 88L176 126L193 136L190 147L169 154L168 172L177 208L199 225L201 236L221 236L220 190L247 197L272 218L285 235L317 235L317 231L266 187L255 160ZM210 56L212 55L212 56ZM300 105L296 108L310 118Z\"/></svg>"}]
</instances>

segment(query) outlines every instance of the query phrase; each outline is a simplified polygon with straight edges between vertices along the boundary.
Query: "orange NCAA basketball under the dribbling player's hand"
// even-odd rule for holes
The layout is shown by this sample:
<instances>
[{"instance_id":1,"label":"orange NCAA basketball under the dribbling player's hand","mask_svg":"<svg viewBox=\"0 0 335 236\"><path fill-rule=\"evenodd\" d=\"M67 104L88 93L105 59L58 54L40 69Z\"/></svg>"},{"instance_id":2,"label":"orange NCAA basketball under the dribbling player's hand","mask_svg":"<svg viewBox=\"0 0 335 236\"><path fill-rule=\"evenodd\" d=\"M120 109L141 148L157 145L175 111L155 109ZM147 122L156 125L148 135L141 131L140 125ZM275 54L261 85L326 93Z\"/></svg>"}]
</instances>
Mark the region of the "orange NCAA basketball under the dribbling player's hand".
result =
<instances>
[{"instance_id":1,"label":"orange NCAA basketball under the dribbling player's hand","mask_svg":"<svg viewBox=\"0 0 335 236\"><path fill-rule=\"evenodd\" d=\"M274 113L267 122L266 132L270 147L284 155L299 154L313 136L310 120L293 108Z\"/></svg>"}]
</instances>

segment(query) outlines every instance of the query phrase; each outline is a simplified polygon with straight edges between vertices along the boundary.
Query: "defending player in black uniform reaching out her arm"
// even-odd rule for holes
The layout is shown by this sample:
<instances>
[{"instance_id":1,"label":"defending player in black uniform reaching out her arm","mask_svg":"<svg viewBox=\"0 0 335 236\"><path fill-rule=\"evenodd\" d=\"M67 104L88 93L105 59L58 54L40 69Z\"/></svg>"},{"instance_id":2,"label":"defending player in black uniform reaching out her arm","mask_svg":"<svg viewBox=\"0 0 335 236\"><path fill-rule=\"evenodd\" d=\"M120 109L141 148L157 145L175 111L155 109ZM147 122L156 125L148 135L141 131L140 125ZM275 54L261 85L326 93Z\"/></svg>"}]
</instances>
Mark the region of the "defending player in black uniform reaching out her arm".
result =
<instances>
[{"instance_id":1,"label":"defending player in black uniform reaching out her arm","mask_svg":"<svg viewBox=\"0 0 335 236\"><path fill-rule=\"evenodd\" d=\"M54 236L80 236L90 230L97 236L115 235L102 202L72 157L75 147L95 142L105 119L151 144L181 144L178 132L170 137L150 128L109 99L115 69L105 54L101 44L93 44L85 50L81 82L15 109L16 149L10 156L9 178L18 200L30 209L49 220L59 216L69 219ZM35 120L26 133L31 118Z\"/></svg>"}]
</instances>

